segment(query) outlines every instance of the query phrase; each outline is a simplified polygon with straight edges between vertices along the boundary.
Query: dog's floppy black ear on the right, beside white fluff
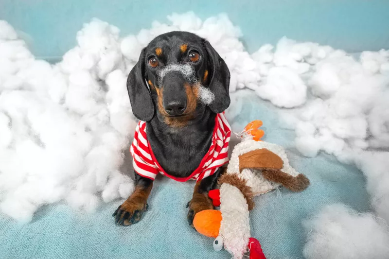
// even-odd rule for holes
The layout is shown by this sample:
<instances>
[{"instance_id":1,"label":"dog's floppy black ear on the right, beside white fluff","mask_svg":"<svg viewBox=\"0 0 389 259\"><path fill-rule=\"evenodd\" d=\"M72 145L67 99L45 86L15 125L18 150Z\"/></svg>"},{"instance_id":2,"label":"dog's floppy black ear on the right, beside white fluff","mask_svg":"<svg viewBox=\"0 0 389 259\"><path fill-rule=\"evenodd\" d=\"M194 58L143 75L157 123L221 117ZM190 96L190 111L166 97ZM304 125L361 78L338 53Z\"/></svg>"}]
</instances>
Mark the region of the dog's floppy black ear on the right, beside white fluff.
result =
<instances>
[{"instance_id":1,"label":"dog's floppy black ear on the right, beside white fluff","mask_svg":"<svg viewBox=\"0 0 389 259\"><path fill-rule=\"evenodd\" d=\"M209 66L212 68L209 87L215 94L210 108L214 113L221 113L230 106L230 70L207 40L204 41L204 47L209 56Z\"/></svg>"}]
</instances>

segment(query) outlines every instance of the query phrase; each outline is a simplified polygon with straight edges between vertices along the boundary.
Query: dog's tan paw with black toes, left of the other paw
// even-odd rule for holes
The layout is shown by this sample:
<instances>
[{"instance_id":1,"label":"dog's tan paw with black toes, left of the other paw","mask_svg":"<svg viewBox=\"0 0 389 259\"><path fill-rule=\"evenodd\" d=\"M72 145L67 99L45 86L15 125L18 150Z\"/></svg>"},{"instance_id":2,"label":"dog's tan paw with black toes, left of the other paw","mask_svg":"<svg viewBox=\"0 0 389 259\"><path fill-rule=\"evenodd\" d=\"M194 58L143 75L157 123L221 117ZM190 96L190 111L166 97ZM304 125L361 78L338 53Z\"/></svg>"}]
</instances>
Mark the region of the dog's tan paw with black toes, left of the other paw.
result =
<instances>
[{"instance_id":1,"label":"dog's tan paw with black toes, left of the other paw","mask_svg":"<svg viewBox=\"0 0 389 259\"><path fill-rule=\"evenodd\" d=\"M112 214L115 217L115 224L129 226L141 220L143 212L148 210L147 202L140 199L132 200L131 197L119 206Z\"/></svg>"}]
</instances>

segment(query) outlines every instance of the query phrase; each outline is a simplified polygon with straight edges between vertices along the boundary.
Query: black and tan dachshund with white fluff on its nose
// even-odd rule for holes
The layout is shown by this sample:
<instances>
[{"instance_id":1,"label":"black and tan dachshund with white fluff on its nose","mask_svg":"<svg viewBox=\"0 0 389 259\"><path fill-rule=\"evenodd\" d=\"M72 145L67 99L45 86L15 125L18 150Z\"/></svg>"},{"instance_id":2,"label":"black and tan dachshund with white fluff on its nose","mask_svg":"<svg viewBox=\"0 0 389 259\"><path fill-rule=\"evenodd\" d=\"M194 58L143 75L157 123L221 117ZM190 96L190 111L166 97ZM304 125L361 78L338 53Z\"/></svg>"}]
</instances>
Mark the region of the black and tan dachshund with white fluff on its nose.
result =
<instances>
[{"instance_id":1,"label":"black and tan dachshund with white fluff on its nose","mask_svg":"<svg viewBox=\"0 0 389 259\"><path fill-rule=\"evenodd\" d=\"M137 154L144 159L152 156L171 178L190 177L210 150L217 116L230 105L229 84L230 71L207 40L188 32L171 32L152 40L141 51L127 80L132 111L144 121L136 132L144 137L143 142L138 140L139 145L144 144L142 154L132 148L134 160ZM201 102L199 89L210 90L212 102ZM151 156L143 154L148 148ZM148 164L138 165L147 171ZM139 222L148 209L155 177L142 173L144 168L137 164L134 169L136 189L113 214L118 225ZM215 187L221 171L222 167L215 168L212 175L197 181L188 203L190 225L195 213L213 209L208 191Z\"/></svg>"}]
</instances>

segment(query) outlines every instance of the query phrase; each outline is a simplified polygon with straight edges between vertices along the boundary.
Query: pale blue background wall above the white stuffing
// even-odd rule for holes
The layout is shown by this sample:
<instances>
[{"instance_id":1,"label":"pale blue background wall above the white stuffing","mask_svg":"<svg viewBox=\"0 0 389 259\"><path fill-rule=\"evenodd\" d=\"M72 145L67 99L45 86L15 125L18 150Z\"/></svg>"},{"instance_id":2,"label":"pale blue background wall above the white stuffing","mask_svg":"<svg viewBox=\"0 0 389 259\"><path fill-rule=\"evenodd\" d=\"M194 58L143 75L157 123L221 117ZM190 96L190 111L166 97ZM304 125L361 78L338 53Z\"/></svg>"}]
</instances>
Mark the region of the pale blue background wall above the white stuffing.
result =
<instances>
[{"instance_id":1,"label":"pale blue background wall above the white stuffing","mask_svg":"<svg viewBox=\"0 0 389 259\"><path fill-rule=\"evenodd\" d=\"M72 48L92 17L126 35L191 10L203 19L227 13L249 52L283 35L349 52L389 49L389 0L0 0L0 19L30 35L32 51L44 57Z\"/></svg>"}]
</instances>

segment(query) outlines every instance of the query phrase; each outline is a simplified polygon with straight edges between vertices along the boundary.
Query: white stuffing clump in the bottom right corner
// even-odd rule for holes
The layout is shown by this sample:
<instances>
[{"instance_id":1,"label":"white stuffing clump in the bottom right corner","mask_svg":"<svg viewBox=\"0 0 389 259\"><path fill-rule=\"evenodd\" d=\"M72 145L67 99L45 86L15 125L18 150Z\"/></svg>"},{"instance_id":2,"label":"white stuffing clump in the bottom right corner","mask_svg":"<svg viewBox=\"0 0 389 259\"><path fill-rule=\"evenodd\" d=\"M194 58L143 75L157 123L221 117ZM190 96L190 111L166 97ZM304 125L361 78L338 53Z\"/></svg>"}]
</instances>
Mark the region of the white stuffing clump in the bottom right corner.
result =
<instances>
[{"instance_id":1,"label":"white stuffing clump in the bottom right corner","mask_svg":"<svg viewBox=\"0 0 389 259\"><path fill-rule=\"evenodd\" d=\"M370 213L357 213L342 204L324 207L303 223L306 259L387 259L389 232L386 224Z\"/></svg>"}]
</instances>

